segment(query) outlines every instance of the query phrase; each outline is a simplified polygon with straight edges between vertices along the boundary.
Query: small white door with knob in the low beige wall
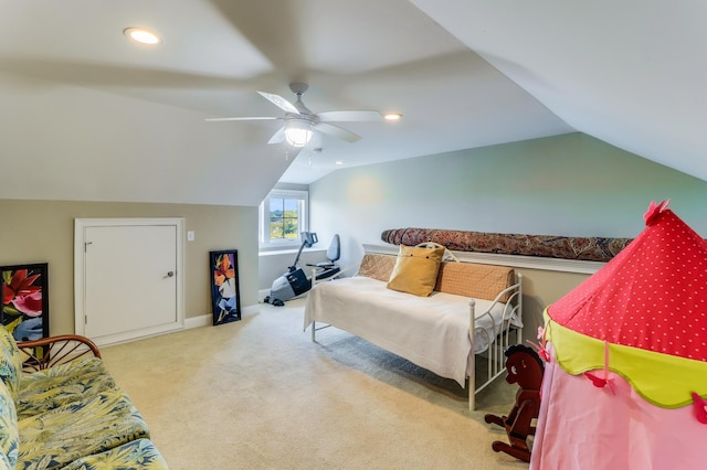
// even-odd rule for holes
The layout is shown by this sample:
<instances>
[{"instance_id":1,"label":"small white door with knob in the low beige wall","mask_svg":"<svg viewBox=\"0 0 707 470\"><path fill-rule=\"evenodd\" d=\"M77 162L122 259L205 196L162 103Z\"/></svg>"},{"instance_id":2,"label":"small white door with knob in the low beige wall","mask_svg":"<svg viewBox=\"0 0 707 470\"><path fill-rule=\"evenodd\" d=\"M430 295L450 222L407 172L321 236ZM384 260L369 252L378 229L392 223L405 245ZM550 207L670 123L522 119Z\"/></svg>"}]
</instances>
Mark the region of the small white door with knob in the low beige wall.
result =
<instances>
[{"instance_id":1,"label":"small white door with knob in the low beige wall","mask_svg":"<svg viewBox=\"0 0 707 470\"><path fill-rule=\"evenodd\" d=\"M78 334L102 345L182 328L181 224L155 221L82 221L76 229L83 252L76 266L83 268Z\"/></svg>"}]
</instances>

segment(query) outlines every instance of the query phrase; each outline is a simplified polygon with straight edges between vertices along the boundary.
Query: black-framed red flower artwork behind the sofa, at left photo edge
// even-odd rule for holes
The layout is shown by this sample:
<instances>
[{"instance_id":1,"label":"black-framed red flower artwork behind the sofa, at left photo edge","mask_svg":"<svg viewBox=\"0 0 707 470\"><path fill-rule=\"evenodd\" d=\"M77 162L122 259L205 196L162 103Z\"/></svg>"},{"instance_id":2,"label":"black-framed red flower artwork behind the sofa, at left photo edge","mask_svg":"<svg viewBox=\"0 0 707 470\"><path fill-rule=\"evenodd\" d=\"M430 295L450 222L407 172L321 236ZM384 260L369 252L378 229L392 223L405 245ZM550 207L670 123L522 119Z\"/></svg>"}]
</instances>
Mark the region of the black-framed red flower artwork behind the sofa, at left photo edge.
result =
<instances>
[{"instance_id":1,"label":"black-framed red flower artwork behind the sofa, at left photo edge","mask_svg":"<svg viewBox=\"0 0 707 470\"><path fill-rule=\"evenodd\" d=\"M49 337L49 265L0 266L0 321L17 341Z\"/></svg>"}]
</instances>

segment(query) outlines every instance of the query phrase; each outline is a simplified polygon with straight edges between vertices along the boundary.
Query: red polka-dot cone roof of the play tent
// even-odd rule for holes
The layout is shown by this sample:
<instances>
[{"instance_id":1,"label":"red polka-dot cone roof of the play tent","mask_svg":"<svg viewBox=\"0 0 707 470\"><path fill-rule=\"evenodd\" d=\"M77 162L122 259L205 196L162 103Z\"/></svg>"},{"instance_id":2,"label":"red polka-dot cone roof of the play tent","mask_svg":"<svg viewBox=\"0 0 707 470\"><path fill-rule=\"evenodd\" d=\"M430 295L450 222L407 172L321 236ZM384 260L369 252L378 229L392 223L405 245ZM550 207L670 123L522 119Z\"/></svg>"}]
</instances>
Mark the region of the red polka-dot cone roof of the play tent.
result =
<instances>
[{"instance_id":1,"label":"red polka-dot cone roof of the play tent","mask_svg":"<svg viewBox=\"0 0 707 470\"><path fill-rule=\"evenodd\" d=\"M548 308L552 321L612 344L707 361L707 242L665 209L597 274Z\"/></svg>"}]
</instances>

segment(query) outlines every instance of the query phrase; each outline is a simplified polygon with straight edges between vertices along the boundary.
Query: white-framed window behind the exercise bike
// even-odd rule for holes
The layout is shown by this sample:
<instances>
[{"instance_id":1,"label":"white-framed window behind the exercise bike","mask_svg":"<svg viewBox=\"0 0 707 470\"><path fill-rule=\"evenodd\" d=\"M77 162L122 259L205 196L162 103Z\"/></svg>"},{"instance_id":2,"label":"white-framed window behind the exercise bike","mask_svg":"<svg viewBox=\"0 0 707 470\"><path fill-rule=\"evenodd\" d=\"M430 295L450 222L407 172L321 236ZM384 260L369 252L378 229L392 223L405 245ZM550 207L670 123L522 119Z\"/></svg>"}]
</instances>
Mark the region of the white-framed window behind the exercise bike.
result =
<instances>
[{"instance_id":1,"label":"white-framed window behind the exercise bike","mask_svg":"<svg viewBox=\"0 0 707 470\"><path fill-rule=\"evenodd\" d=\"M271 191L260 206L261 248L298 246L308 227L307 209L307 191Z\"/></svg>"}]
</instances>

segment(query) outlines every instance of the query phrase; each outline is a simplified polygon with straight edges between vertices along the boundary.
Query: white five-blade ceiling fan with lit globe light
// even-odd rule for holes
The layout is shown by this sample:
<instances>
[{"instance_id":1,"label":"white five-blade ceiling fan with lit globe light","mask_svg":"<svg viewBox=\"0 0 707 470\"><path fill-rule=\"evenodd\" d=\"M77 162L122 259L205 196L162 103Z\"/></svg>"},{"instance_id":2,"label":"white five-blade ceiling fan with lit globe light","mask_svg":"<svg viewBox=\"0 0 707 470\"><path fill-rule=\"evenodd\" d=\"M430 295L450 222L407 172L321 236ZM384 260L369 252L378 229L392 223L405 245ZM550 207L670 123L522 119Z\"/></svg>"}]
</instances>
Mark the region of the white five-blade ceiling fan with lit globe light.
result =
<instances>
[{"instance_id":1,"label":"white five-blade ceiling fan with lit globe light","mask_svg":"<svg viewBox=\"0 0 707 470\"><path fill-rule=\"evenodd\" d=\"M340 110L312 113L309 108L302 102L302 95L309 88L306 83L291 83L289 89L297 95L295 104L279 95L272 93L257 92L264 98L268 99L278 108L285 111L284 117L264 116L264 117L229 117L229 118L207 118L208 121L221 120L283 120L284 126L277 130L267 141L267 143L278 143L283 140L293 147L306 146L315 130L346 140L347 142L356 142L361 136L344 129L342 127L333 125L331 122L344 121L378 121L382 120L380 111L373 110Z\"/></svg>"}]
</instances>

